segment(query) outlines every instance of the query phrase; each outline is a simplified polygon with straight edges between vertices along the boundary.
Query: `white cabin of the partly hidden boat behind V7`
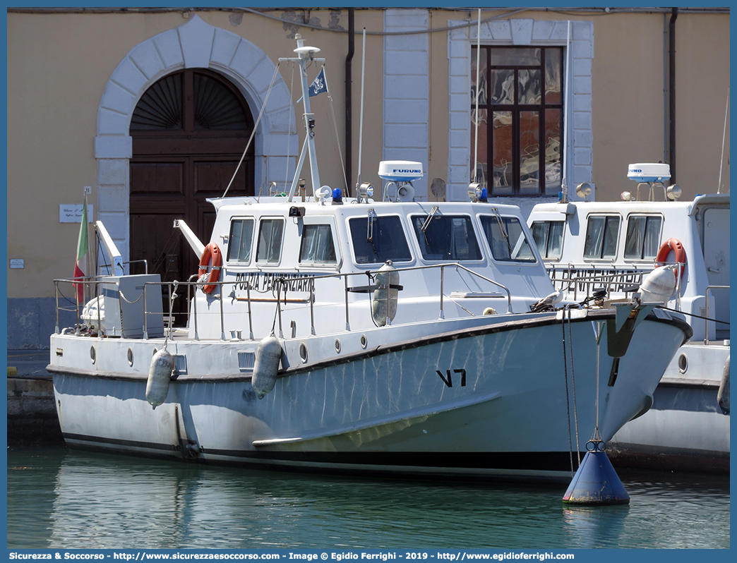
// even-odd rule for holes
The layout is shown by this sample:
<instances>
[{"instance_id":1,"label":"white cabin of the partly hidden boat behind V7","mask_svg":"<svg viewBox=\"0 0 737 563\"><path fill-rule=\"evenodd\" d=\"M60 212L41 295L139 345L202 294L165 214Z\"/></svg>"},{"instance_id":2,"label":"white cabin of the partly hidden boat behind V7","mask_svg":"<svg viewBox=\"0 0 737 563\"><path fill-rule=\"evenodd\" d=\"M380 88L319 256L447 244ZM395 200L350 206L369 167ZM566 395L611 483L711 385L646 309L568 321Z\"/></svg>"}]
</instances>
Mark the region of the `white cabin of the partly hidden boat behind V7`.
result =
<instances>
[{"instance_id":1,"label":"white cabin of the partly hidden boat behind V7","mask_svg":"<svg viewBox=\"0 0 737 563\"><path fill-rule=\"evenodd\" d=\"M542 203L528 226L553 284L569 298L581 301L596 290L610 298L630 295L656 264L680 263L668 307L711 320L689 318L694 340L729 338L729 326L714 322L729 321L729 194L683 202Z\"/></svg>"}]
</instances>

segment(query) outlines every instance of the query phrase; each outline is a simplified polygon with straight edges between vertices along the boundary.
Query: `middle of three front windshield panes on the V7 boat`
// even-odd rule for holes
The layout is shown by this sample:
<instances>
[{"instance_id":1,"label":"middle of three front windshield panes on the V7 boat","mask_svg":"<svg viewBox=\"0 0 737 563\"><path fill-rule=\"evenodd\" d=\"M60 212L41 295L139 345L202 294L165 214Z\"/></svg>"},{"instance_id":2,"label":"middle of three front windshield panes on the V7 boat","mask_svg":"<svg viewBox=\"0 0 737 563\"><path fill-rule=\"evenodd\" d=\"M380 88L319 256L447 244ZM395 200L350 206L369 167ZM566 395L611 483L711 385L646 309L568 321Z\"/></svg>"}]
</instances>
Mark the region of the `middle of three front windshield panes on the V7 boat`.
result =
<instances>
[{"instance_id":1,"label":"middle of three front windshield panes on the V7 boat","mask_svg":"<svg viewBox=\"0 0 737 563\"><path fill-rule=\"evenodd\" d=\"M412 217L417 242L425 260L481 260L481 249L471 217L415 215Z\"/></svg>"}]
</instances>

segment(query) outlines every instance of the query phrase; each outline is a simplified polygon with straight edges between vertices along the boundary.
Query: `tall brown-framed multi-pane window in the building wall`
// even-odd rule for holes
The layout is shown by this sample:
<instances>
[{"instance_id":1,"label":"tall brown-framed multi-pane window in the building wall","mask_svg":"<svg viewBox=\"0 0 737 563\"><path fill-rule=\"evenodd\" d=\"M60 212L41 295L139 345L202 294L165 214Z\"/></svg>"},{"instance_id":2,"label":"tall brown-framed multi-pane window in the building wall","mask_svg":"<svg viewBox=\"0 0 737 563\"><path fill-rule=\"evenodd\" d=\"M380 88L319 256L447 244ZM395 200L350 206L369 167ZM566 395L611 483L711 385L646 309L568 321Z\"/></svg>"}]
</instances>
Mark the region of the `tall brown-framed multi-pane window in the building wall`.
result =
<instances>
[{"instance_id":1,"label":"tall brown-framed multi-pane window in the building wall","mask_svg":"<svg viewBox=\"0 0 737 563\"><path fill-rule=\"evenodd\" d=\"M488 183L489 195L557 195L563 48L481 46L478 84L475 46L471 55L471 179Z\"/></svg>"}]
</instances>

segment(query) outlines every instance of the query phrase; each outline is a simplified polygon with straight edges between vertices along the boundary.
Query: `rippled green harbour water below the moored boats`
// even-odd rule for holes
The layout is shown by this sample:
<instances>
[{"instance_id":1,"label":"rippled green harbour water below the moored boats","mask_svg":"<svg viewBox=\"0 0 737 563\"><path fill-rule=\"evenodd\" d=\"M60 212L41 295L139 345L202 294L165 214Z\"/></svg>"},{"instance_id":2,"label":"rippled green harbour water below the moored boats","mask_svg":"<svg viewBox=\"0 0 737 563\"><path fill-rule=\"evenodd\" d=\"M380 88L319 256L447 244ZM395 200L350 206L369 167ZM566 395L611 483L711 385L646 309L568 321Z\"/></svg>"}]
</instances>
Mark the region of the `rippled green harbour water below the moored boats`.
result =
<instances>
[{"instance_id":1,"label":"rippled green harbour water below the moored boats","mask_svg":"<svg viewBox=\"0 0 737 563\"><path fill-rule=\"evenodd\" d=\"M629 505L565 485L266 472L66 447L7 450L9 549L730 548L725 475L620 470Z\"/></svg>"}]
</instances>

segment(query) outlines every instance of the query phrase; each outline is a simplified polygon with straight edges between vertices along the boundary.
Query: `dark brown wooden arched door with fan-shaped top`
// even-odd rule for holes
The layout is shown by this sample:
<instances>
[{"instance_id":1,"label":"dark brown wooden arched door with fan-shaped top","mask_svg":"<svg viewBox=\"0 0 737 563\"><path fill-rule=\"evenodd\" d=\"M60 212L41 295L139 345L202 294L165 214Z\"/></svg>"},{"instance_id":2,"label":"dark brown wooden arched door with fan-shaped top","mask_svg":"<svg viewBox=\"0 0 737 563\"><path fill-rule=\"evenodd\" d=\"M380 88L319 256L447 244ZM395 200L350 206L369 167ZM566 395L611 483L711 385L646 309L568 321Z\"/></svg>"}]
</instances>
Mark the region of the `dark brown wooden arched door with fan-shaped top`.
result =
<instances>
[{"instance_id":1,"label":"dark brown wooden arched door with fan-shaped top","mask_svg":"<svg viewBox=\"0 0 737 563\"><path fill-rule=\"evenodd\" d=\"M208 197L220 197L254 128L237 88L207 69L185 69L150 86L130 120L130 273L189 279L198 256L172 228L184 219L207 242L214 224ZM254 149L238 169L228 195L254 195ZM178 299L175 312L186 307Z\"/></svg>"}]
</instances>

